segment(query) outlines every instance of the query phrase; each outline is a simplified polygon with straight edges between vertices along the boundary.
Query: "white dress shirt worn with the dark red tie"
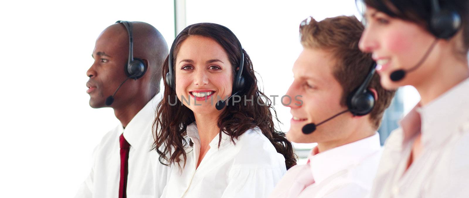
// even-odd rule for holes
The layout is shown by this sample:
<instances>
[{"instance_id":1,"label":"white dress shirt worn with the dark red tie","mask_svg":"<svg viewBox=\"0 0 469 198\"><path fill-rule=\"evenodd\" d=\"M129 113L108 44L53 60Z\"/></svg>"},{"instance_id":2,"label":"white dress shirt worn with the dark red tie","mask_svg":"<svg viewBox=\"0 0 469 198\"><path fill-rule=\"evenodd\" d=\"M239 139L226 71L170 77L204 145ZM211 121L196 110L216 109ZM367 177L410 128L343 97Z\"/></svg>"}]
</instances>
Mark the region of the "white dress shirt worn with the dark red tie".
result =
<instances>
[{"instance_id":1,"label":"white dress shirt worn with the dark red tie","mask_svg":"<svg viewBox=\"0 0 469 198\"><path fill-rule=\"evenodd\" d=\"M81 185L76 198L117 198L121 156L119 136L130 144L127 198L159 198L167 182L169 167L159 163L153 143L151 126L158 94L142 108L124 129L121 124L109 131L93 152L93 165L88 178Z\"/></svg>"}]
</instances>

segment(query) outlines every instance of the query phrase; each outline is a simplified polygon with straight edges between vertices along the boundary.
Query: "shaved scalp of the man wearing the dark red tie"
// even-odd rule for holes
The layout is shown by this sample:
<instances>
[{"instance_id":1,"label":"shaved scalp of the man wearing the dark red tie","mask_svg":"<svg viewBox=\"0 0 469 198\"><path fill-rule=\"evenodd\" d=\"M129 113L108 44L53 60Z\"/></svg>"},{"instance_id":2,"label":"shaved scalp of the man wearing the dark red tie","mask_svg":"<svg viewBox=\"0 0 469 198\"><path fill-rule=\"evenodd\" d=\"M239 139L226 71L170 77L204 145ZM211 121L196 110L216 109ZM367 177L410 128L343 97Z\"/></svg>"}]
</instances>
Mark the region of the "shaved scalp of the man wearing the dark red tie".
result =
<instances>
[{"instance_id":1,"label":"shaved scalp of the man wearing the dark red tie","mask_svg":"<svg viewBox=\"0 0 469 198\"><path fill-rule=\"evenodd\" d=\"M159 88L161 80L161 65L168 55L168 46L166 40L161 33L152 25L144 22L130 22L132 23L132 36L134 39L134 57L147 60L148 70L145 76L150 75L150 83L152 86ZM114 23L107 27L98 40L102 37L113 39L115 47L129 53L129 35L124 25L121 23Z\"/></svg>"}]
</instances>

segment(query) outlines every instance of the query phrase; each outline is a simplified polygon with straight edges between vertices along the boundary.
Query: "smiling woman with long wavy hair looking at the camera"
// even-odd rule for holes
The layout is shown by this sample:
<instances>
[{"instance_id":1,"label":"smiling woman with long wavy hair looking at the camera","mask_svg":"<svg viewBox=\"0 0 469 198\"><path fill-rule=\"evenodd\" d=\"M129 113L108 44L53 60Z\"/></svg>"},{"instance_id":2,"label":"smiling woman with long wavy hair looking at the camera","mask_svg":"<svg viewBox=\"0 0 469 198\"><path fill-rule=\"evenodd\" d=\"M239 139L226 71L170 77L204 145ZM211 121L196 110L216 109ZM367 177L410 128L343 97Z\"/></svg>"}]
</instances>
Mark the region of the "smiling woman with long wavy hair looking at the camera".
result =
<instances>
[{"instance_id":1,"label":"smiling woman with long wavy hair looking at the camera","mask_svg":"<svg viewBox=\"0 0 469 198\"><path fill-rule=\"evenodd\" d=\"M189 25L168 59L154 125L160 161L174 166L162 198L267 197L295 158L270 100L258 100L267 97L236 36L219 24ZM240 102L216 109L234 93Z\"/></svg>"}]
</instances>

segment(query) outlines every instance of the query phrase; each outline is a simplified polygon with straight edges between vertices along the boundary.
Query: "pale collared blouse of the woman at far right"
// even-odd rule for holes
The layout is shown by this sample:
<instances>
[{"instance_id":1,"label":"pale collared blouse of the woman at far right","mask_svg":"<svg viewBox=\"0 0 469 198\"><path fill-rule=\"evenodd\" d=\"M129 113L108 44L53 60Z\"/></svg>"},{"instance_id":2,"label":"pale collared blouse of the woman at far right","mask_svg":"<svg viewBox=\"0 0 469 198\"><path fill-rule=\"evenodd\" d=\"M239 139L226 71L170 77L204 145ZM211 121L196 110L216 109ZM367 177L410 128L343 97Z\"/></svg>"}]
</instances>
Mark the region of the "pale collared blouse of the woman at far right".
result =
<instances>
[{"instance_id":1,"label":"pale collared blouse of the woman at far right","mask_svg":"<svg viewBox=\"0 0 469 198\"><path fill-rule=\"evenodd\" d=\"M469 198L469 79L424 107L388 137L373 198ZM406 170L421 134L422 152Z\"/></svg>"}]
</instances>

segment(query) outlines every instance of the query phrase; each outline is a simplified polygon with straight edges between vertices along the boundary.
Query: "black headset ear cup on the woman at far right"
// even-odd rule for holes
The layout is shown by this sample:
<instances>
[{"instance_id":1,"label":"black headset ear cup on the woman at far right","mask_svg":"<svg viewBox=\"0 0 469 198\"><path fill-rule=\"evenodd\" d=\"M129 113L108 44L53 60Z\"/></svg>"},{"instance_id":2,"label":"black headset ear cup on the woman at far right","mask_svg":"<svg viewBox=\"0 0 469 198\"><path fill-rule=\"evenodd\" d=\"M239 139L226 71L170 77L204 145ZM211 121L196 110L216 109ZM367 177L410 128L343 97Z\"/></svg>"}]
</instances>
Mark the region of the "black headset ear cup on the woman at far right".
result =
<instances>
[{"instance_id":1,"label":"black headset ear cup on the woman at far right","mask_svg":"<svg viewBox=\"0 0 469 198\"><path fill-rule=\"evenodd\" d=\"M461 15L450 5L440 7L439 0L431 0L429 30L437 38L449 39L461 28Z\"/></svg>"}]
</instances>

